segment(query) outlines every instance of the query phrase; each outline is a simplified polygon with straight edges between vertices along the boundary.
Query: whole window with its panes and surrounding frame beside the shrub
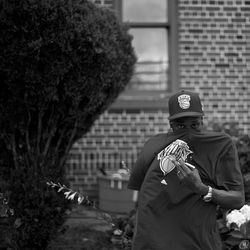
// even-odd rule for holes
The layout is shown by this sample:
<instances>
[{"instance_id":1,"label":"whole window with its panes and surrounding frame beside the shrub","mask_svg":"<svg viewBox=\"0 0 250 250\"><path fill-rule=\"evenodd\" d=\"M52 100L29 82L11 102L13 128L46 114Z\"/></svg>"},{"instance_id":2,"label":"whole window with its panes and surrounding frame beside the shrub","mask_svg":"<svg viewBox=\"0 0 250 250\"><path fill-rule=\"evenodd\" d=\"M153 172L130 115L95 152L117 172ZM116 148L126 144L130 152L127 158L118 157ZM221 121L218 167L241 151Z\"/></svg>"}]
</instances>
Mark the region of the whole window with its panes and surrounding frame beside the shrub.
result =
<instances>
[{"instance_id":1,"label":"whole window with its panes and surrounding frame beside the shrub","mask_svg":"<svg viewBox=\"0 0 250 250\"><path fill-rule=\"evenodd\" d=\"M114 0L129 26L138 58L128 86L133 95L177 89L176 0Z\"/></svg>"}]
</instances>

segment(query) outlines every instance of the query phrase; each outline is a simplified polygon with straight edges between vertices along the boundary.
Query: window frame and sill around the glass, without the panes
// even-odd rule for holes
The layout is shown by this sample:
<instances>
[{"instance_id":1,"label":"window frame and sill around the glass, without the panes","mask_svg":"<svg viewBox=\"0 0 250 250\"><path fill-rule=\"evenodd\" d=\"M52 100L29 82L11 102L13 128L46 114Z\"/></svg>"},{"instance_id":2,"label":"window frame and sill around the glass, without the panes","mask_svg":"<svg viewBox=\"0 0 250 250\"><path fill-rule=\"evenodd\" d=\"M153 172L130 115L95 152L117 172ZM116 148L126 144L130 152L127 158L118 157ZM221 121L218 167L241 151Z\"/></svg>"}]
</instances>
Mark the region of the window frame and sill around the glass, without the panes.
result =
<instances>
[{"instance_id":1,"label":"window frame and sill around the glass, without the panes","mask_svg":"<svg viewBox=\"0 0 250 250\"><path fill-rule=\"evenodd\" d=\"M114 0L114 9L122 22L122 1ZM133 22L126 23L131 28L167 28L168 32L168 89L162 90L135 90L126 89L123 91L115 103L111 105L111 109L166 109L167 99L171 93L176 92L179 88L178 75L178 1L168 1L168 20L167 22L143 23Z\"/></svg>"}]
</instances>

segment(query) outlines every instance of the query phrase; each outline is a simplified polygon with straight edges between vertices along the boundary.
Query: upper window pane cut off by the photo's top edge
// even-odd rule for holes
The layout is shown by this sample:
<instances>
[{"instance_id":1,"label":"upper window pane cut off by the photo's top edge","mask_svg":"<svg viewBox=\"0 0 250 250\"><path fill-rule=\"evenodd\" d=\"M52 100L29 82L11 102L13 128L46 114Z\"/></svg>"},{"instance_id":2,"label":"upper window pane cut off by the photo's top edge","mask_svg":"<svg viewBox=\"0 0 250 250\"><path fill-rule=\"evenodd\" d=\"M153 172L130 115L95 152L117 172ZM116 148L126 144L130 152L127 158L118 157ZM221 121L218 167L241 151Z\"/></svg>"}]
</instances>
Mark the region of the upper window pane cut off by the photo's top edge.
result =
<instances>
[{"instance_id":1,"label":"upper window pane cut off by the photo's top edge","mask_svg":"<svg viewBox=\"0 0 250 250\"><path fill-rule=\"evenodd\" d=\"M167 0L123 0L124 22L166 22Z\"/></svg>"}]
</instances>

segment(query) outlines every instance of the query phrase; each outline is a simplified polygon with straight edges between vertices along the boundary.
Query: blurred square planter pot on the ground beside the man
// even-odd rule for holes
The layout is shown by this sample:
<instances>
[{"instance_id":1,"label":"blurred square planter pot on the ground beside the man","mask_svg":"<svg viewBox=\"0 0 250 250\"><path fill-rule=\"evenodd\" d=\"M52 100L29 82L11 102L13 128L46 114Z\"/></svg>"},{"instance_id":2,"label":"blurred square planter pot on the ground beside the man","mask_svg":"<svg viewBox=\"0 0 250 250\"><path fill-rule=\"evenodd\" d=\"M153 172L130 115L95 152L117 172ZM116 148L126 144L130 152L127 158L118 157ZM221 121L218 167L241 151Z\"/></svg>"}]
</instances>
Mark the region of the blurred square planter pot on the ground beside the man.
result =
<instances>
[{"instance_id":1,"label":"blurred square planter pot on the ground beside the man","mask_svg":"<svg viewBox=\"0 0 250 250\"><path fill-rule=\"evenodd\" d=\"M128 177L99 176L99 208L106 212L128 213L135 207L137 192L129 190Z\"/></svg>"}]
</instances>

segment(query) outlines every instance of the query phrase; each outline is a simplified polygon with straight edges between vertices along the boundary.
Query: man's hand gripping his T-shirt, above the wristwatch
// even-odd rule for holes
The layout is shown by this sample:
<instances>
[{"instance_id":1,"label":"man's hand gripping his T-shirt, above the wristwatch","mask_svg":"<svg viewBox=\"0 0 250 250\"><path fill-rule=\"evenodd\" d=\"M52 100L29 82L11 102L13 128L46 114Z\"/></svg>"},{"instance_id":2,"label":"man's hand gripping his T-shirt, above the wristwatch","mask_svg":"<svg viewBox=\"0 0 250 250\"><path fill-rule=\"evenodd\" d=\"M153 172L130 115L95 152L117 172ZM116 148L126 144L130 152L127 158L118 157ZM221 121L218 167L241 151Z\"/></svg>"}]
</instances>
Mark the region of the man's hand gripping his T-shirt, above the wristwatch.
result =
<instances>
[{"instance_id":1,"label":"man's hand gripping his T-shirt, above the wristwatch","mask_svg":"<svg viewBox=\"0 0 250 250\"><path fill-rule=\"evenodd\" d=\"M176 161L174 159L173 163L177 168L177 176L183 184L200 195L205 195L207 193L208 187L203 184L196 168L191 169L182 160Z\"/></svg>"}]
</instances>

